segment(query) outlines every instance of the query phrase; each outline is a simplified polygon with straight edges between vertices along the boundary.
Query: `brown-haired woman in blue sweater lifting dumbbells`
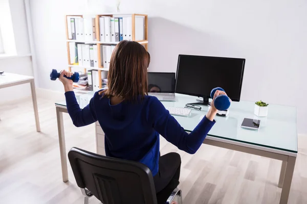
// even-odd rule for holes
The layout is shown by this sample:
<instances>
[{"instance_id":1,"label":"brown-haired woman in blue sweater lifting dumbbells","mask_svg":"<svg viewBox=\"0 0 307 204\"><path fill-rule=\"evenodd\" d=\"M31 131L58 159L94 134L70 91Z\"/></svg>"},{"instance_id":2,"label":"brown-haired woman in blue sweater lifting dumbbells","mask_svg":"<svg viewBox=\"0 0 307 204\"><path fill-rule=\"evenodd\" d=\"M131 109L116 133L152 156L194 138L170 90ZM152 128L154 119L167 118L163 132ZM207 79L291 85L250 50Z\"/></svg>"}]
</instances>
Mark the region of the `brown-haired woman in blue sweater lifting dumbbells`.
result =
<instances>
[{"instance_id":1,"label":"brown-haired woman in blue sweater lifting dumbbells","mask_svg":"<svg viewBox=\"0 0 307 204\"><path fill-rule=\"evenodd\" d=\"M177 153L160 157L162 135L179 149L194 154L215 123L217 110L211 109L195 129L186 133L161 102L147 95L147 68L150 56L145 48L134 41L118 43L111 57L108 89L96 92L83 110L73 92L73 82L63 77L72 73L61 71L68 113L79 127L98 120L105 133L105 154L148 166L158 193L171 179L179 180L181 159ZM216 91L214 97L225 94Z\"/></svg>"}]
</instances>

